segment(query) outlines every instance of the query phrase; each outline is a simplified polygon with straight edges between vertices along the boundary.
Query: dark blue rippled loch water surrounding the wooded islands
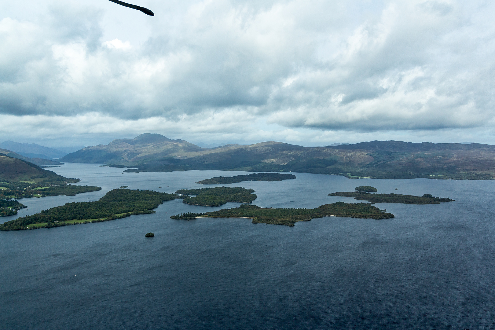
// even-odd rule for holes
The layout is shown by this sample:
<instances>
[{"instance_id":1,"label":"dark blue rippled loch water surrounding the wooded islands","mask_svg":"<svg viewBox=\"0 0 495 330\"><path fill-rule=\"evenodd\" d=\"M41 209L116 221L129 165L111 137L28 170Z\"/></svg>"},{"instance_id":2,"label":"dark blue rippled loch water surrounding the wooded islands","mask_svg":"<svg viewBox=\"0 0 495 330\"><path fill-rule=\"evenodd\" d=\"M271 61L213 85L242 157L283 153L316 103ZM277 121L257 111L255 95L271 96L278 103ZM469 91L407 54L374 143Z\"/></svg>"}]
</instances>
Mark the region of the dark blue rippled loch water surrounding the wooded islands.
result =
<instances>
[{"instance_id":1,"label":"dark blue rippled loch water surrounding the wooded islands","mask_svg":"<svg viewBox=\"0 0 495 330\"><path fill-rule=\"evenodd\" d=\"M21 215L98 200L123 185L174 192L241 174L122 174L89 164L53 170L103 189L23 199L30 208ZM268 207L355 202L327 194L360 185L456 201L376 204L396 217L327 217L291 228L171 220L220 208L173 200L151 215L0 232L0 328L495 329L495 181L296 176L226 186L255 189L253 203Z\"/></svg>"}]
</instances>

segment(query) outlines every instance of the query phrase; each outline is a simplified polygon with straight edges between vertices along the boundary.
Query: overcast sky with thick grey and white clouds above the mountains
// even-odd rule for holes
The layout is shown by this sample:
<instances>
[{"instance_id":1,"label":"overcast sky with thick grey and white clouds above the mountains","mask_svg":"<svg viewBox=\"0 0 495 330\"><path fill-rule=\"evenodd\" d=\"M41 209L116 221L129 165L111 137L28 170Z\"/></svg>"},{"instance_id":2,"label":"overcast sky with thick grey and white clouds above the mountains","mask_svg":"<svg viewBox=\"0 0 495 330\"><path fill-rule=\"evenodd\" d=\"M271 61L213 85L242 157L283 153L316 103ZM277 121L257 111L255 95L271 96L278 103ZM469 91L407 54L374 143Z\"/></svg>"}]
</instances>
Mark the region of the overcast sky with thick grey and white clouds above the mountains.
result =
<instances>
[{"instance_id":1,"label":"overcast sky with thick grey and white clouds above the mountains","mask_svg":"<svg viewBox=\"0 0 495 330\"><path fill-rule=\"evenodd\" d=\"M495 1L2 1L0 142L495 144Z\"/></svg>"}]
</instances>

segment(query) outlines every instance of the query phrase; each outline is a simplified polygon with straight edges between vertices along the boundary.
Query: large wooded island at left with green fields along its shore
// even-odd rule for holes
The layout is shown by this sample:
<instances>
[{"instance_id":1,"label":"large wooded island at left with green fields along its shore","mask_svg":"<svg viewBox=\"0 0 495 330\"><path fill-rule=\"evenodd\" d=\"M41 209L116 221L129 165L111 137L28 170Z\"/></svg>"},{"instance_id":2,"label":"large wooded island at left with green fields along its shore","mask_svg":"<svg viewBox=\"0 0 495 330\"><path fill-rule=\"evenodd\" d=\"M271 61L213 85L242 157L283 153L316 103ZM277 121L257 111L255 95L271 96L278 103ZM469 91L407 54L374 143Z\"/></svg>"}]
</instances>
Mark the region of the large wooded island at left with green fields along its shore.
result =
<instances>
[{"instance_id":1,"label":"large wooded island at left with green fields along its shore","mask_svg":"<svg viewBox=\"0 0 495 330\"><path fill-rule=\"evenodd\" d=\"M7 221L0 225L0 230L50 228L119 219L132 214L155 213L152 209L176 197L175 193L152 190L113 189L96 202L66 203Z\"/></svg>"}]
</instances>

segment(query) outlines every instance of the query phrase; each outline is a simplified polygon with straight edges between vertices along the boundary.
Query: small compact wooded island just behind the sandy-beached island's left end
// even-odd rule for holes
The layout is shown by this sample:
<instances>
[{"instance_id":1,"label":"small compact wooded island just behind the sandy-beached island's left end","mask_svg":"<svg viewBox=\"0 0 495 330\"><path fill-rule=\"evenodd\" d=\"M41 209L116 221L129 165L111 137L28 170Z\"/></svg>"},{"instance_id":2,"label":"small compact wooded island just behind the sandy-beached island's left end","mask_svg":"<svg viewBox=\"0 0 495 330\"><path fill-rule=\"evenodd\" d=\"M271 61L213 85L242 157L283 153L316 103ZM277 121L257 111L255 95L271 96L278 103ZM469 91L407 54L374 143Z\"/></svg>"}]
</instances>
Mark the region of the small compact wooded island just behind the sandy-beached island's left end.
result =
<instances>
[{"instance_id":1,"label":"small compact wooded island just behind the sandy-beached island's left end","mask_svg":"<svg viewBox=\"0 0 495 330\"><path fill-rule=\"evenodd\" d=\"M202 206L220 206L227 202L250 203L256 199L253 189L244 187L215 187L199 189L179 189L175 193L180 193L184 198L184 203ZM191 197L189 195L197 195Z\"/></svg>"}]
</instances>

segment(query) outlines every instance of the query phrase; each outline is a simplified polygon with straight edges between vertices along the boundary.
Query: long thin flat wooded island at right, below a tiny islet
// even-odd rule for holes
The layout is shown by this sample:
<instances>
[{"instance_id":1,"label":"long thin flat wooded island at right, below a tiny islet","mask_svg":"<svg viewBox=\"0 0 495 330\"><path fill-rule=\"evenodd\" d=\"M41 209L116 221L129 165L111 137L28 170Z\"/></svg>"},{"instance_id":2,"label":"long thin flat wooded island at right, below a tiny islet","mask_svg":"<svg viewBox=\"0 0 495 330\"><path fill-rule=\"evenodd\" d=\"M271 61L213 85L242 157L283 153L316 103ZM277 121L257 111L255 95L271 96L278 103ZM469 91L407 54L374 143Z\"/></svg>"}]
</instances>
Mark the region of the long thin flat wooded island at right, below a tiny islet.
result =
<instances>
[{"instance_id":1,"label":"long thin flat wooded island at right, below a tiny islet","mask_svg":"<svg viewBox=\"0 0 495 330\"><path fill-rule=\"evenodd\" d=\"M358 200L367 200L371 203L401 203L401 204L440 204L443 202L453 202L454 199L435 197L431 194L423 196L400 195L396 193L369 193L364 191L338 191L329 193L329 196L354 197Z\"/></svg>"}]
</instances>

